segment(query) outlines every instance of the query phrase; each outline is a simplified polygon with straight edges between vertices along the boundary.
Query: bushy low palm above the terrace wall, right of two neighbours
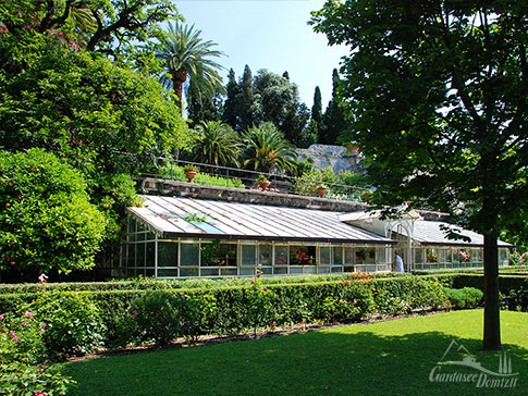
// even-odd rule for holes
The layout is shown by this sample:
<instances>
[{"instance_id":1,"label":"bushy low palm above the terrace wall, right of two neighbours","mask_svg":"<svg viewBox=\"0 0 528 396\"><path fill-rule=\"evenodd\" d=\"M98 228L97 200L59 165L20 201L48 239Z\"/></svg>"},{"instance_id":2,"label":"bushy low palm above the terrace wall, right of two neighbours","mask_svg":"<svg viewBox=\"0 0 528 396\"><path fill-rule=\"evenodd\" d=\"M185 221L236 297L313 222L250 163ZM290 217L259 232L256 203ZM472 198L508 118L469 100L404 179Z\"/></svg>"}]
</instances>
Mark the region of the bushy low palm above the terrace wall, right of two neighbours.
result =
<instances>
[{"instance_id":1,"label":"bushy low palm above the terrace wall, right of two neighbours","mask_svg":"<svg viewBox=\"0 0 528 396\"><path fill-rule=\"evenodd\" d=\"M268 173L271 168L280 171L295 170L297 159L295 147L284 138L271 122L251 126L243 136L246 146L245 164L254 165L255 170Z\"/></svg>"}]
</instances>

